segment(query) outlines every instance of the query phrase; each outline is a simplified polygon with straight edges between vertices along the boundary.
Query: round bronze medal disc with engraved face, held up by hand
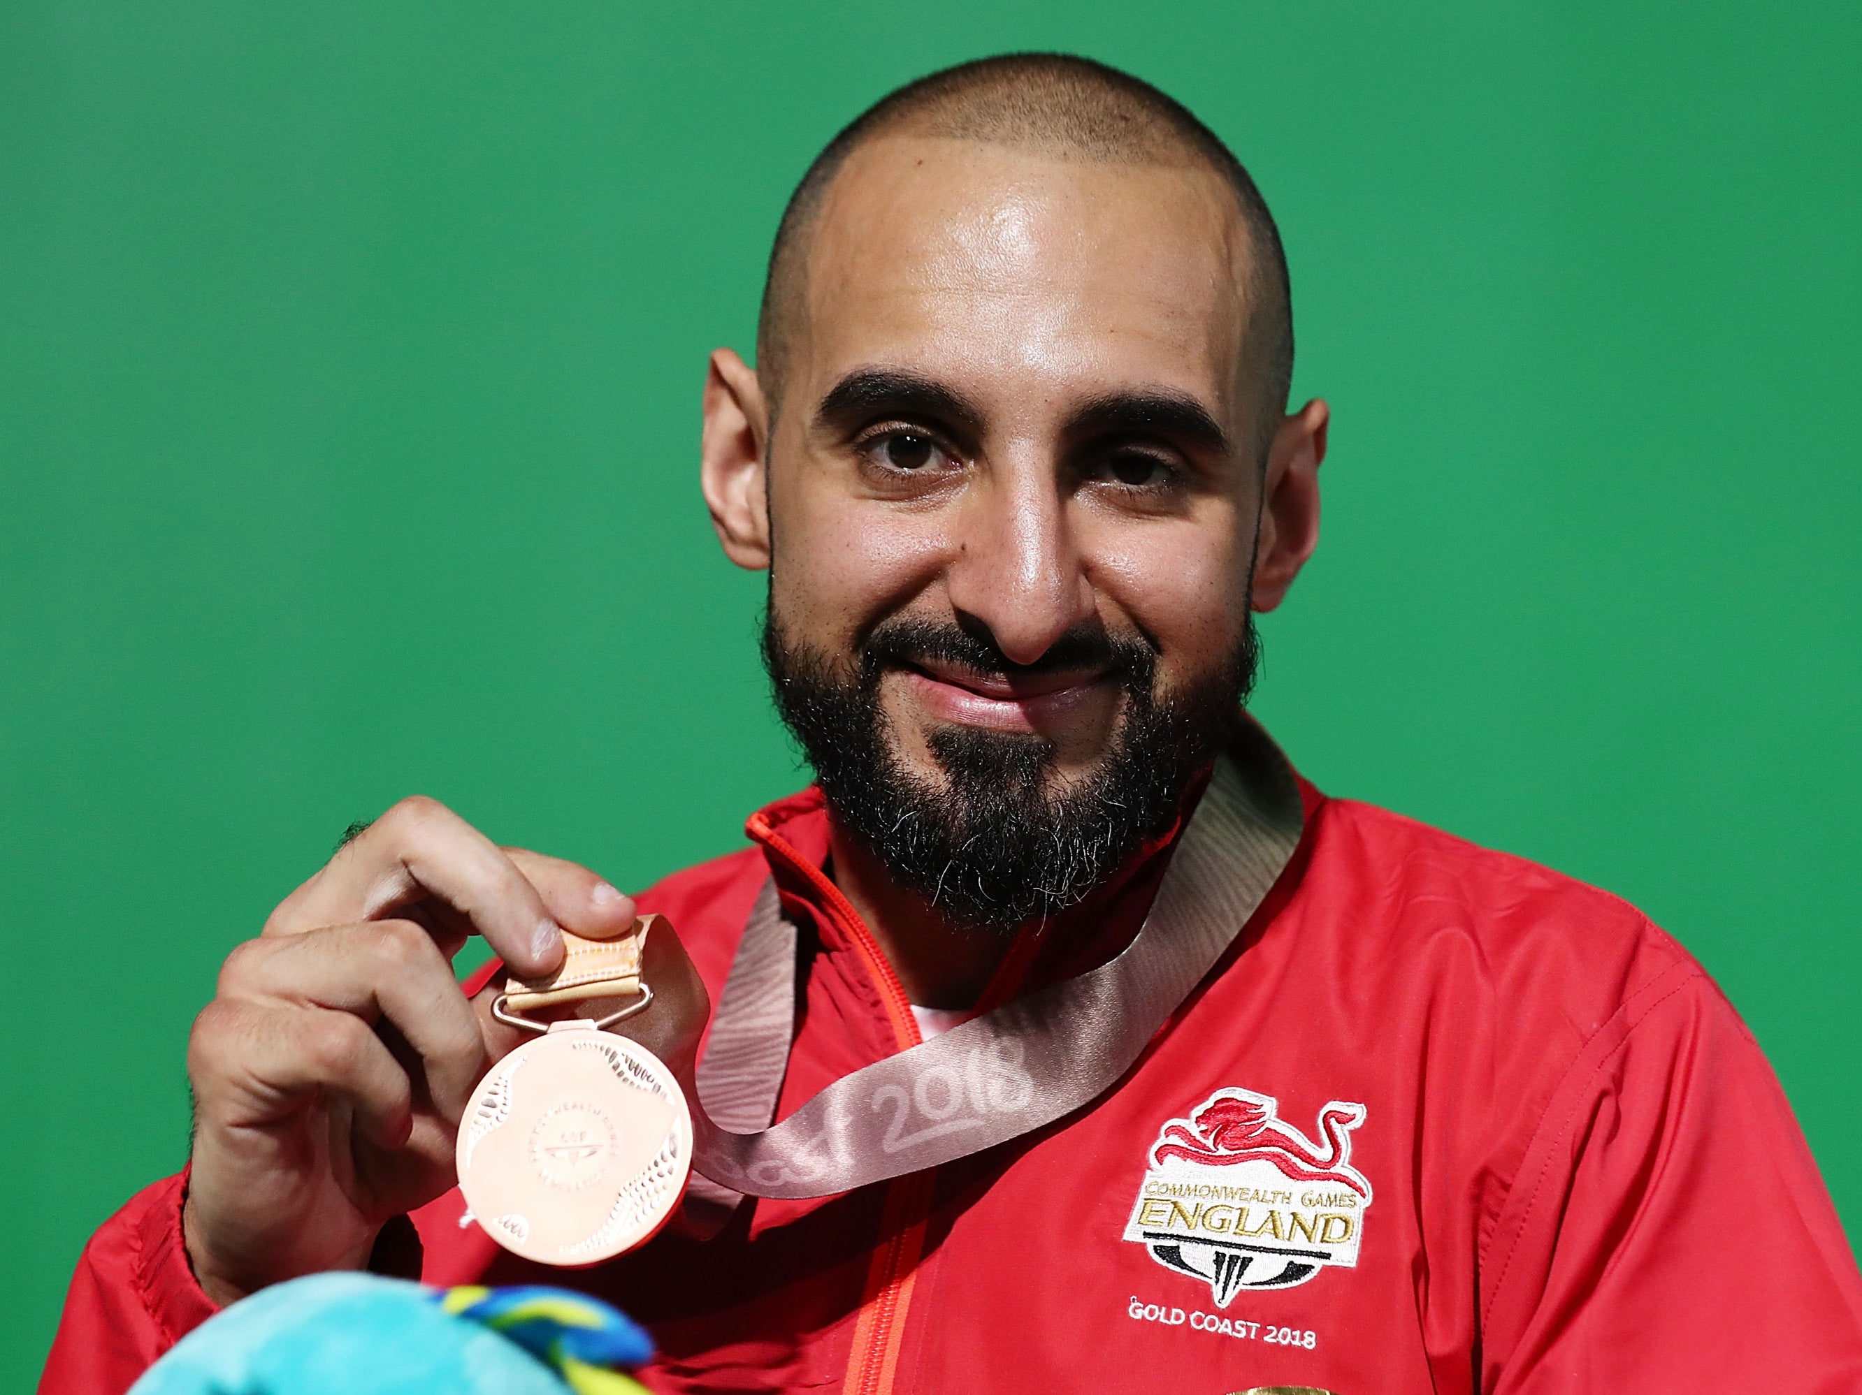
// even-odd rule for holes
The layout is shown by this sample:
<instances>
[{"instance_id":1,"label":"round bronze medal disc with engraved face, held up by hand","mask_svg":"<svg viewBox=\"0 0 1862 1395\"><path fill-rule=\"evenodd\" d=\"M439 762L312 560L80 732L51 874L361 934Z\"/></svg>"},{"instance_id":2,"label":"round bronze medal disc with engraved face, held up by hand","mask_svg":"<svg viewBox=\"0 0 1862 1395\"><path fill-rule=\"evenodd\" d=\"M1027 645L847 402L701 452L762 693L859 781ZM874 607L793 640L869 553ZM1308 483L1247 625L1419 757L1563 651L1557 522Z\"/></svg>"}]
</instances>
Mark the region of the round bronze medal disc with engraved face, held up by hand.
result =
<instances>
[{"instance_id":1,"label":"round bronze medal disc with engraved face, held up by hand","mask_svg":"<svg viewBox=\"0 0 1862 1395\"><path fill-rule=\"evenodd\" d=\"M460 1190L506 1250L598 1265L644 1244L685 1194L693 1120L672 1071L587 1023L525 1042L479 1083Z\"/></svg>"}]
</instances>

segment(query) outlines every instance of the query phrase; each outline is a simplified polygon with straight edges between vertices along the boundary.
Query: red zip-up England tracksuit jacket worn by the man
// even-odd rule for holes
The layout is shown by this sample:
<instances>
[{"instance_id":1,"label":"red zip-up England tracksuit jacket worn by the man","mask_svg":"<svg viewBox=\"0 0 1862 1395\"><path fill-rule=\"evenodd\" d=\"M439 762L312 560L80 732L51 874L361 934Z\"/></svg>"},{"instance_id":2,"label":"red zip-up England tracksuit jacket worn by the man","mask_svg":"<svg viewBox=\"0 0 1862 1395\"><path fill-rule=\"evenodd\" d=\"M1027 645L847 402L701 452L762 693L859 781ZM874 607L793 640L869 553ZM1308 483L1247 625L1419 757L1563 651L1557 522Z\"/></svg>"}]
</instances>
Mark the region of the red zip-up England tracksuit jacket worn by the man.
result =
<instances>
[{"instance_id":1,"label":"red zip-up England tracksuit jacket worn by the man","mask_svg":"<svg viewBox=\"0 0 1862 1395\"><path fill-rule=\"evenodd\" d=\"M929 1174L747 1203L711 1241L663 1233L592 1270L501 1252L460 1228L452 1192L413 1216L413 1263L432 1283L613 1300L657 1339L661 1391L1862 1391L1842 1226L1687 952L1532 863L1311 789L1305 805L1227 958L1078 1114ZM641 904L717 1001L775 874L804 958L788 1114L918 1029L821 870L819 794L749 828L758 848ZM1089 936L1019 941L992 995L1117 952L1166 861L1071 917ZM123 1391L212 1313L182 1185L89 1242L41 1391Z\"/></svg>"}]
</instances>

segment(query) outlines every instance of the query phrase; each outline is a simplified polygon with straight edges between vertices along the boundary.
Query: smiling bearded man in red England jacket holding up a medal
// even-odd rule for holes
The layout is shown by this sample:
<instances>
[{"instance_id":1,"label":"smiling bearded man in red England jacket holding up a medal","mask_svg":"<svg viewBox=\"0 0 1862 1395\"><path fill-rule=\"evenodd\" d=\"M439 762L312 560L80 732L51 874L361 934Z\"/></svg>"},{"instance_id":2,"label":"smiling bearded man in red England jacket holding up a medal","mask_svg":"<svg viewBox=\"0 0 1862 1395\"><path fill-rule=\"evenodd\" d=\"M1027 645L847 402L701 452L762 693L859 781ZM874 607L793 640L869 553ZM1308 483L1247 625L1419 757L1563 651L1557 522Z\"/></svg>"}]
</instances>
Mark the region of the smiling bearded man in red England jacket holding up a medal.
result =
<instances>
[{"instance_id":1,"label":"smiling bearded man in red England jacket holding up a medal","mask_svg":"<svg viewBox=\"0 0 1862 1395\"><path fill-rule=\"evenodd\" d=\"M1287 413L1290 370L1268 210L1154 89L1017 56L862 115L782 219L756 368L721 350L704 398L706 500L771 573L819 785L639 898L426 800L376 820L227 960L190 1172L93 1239L45 1388L123 1389L216 1306L361 1267L566 1278L646 1322L659 1389L1862 1388L1855 1261L1700 967L1599 891L1294 789L1236 716L1251 612L1318 539L1328 409ZM1089 999L1233 880L1212 809L1290 830L1205 915L1212 967L1154 1012ZM546 1270L452 1190L518 1034L447 958L479 932L534 976L560 930L637 911L678 939L648 941L661 999L626 1027L685 1079L756 926L793 926L778 1120L953 1021L1002 1032L1028 1097L1078 1084L1050 1027L1078 1075L1130 1051L940 1166L711 1189L635 1254ZM1026 1003L1071 1006L996 1012ZM963 1107L916 1081L855 1162Z\"/></svg>"}]
</instances>

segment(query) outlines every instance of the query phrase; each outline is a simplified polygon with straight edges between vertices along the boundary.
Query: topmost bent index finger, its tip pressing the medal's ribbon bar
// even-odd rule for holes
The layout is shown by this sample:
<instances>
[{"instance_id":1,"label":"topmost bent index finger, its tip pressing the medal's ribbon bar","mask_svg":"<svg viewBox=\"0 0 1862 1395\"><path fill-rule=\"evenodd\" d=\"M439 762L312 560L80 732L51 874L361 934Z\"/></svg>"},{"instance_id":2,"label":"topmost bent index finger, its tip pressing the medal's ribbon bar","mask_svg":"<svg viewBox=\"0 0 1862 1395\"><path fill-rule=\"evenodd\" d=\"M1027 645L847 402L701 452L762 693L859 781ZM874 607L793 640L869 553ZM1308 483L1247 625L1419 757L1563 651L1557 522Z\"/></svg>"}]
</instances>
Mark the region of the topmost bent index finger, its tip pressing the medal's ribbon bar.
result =
<instances>
[{"instance_id":1,"label":"topmost bent index finger, its tip pressing the medal's ribbon bar","mask_svg":"<svg viewBox=\"0 0 1862 1395\"><path fill-rule=\"evenodd\" d=\"M562 962L562 932L536 887L492 839L421 796L402 800L344 844L272 911L264 930L302 934L374 921L426 898L460 911L527 978Z\"/></svg>"}]
</instances>

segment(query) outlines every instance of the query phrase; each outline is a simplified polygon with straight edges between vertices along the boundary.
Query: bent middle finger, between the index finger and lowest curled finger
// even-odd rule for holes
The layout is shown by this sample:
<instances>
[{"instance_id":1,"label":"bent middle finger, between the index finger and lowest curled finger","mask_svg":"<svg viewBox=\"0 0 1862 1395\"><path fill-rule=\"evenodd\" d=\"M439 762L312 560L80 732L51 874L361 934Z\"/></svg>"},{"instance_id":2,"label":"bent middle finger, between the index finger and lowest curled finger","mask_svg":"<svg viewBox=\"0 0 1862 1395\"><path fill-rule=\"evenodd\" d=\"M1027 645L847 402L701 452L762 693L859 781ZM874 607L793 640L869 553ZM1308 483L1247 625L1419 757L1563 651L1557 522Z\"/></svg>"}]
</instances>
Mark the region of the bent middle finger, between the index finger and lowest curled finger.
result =
<instances>
[{"instance_id":1,"label":"bent middle finger, between the index finger and lowest curled finger","mask_svg":"<svg viewBox=\"0 0 1862 1395\"><path fill-rule=\"evenodd\" d=\"M486 1068L479 1019L432 936L412 921L365 921L253 939L227 956L220 993L238 1001L385 1017L419 1056L426 1094L447 1123Z\"/></svg>"}]
</instances>

